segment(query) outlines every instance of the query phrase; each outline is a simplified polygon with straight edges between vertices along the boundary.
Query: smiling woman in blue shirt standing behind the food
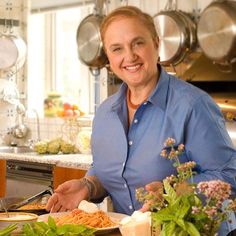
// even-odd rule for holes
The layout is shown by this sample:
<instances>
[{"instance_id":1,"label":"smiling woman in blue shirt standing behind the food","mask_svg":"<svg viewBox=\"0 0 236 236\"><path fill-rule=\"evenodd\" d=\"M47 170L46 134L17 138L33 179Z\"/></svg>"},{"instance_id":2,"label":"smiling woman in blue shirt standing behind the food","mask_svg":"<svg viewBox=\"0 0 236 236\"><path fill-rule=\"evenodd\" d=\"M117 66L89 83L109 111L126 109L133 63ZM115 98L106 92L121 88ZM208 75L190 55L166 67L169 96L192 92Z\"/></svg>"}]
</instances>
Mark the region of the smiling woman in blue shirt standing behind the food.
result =
<instances>
[{"instance_id":1,"label":"smiling woman in blue shirt standing behind the food","mask_svg":"<svg viewBox=\"0 0 236 236\"><path fill-rule=\"evenodd\" d=\"M123 84L95 115L93 166L85 178L59 186L47 209L73 209L82 199L109 195L116 212L132 214L142 207L135 189L153 190L175 173L172 163L160 157L168 137L183 143L186 160L197 163L195 182L217 178L235 190L236 151L221 112L205 92L158 64L152 18L135 7L118 8L104 19L101 36L110 68ZM233 227L224 226L222 235Z\"/></svg>"}]
</instances>

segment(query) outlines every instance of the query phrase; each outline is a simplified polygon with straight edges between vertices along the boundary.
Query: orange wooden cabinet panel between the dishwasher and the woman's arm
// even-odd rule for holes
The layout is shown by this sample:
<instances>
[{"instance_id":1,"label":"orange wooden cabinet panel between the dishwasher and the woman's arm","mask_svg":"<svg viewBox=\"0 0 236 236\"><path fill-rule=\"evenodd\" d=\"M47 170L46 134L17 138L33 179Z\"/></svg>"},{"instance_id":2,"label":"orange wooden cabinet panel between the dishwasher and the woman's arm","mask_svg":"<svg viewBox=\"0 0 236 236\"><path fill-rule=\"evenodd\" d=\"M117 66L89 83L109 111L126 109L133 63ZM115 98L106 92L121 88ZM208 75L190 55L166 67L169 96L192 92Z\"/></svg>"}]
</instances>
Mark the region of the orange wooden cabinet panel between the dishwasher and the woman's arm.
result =
<instances>
[{"instance_id":1,"label":"orange wooden cabinet panel between the dishwasher and the woman's arm","mask_svg":"<svg viewBox=\"0 0 236 236\"><path fill-rule=\"evenodd\" d=\"M53 168L53 188L71 179L80 179L84 177L86 171L72 168L54 167Z\"/></svg>"}]
</instances>

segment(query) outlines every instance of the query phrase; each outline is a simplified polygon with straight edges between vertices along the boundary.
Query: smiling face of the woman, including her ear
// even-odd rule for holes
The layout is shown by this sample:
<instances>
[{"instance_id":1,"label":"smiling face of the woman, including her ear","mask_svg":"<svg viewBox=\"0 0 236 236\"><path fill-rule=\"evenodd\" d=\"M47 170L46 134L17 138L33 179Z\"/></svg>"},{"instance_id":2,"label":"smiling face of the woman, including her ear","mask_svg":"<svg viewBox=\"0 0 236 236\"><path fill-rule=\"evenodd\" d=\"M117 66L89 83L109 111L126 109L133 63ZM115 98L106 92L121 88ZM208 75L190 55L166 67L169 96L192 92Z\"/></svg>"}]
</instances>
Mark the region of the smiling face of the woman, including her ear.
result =
<instances>
[{"instance_id":1,"label":"smiling face of the woman, including her ear","mask_svg":"<svg viewBox=\"0 0 236 236\"><path fill-rule=\"evenodd\" d=\"M112 71L129 87L157 80L158 39L137 19L120 17L110 23L104 46Z\"/></svg>"}]
</instances>

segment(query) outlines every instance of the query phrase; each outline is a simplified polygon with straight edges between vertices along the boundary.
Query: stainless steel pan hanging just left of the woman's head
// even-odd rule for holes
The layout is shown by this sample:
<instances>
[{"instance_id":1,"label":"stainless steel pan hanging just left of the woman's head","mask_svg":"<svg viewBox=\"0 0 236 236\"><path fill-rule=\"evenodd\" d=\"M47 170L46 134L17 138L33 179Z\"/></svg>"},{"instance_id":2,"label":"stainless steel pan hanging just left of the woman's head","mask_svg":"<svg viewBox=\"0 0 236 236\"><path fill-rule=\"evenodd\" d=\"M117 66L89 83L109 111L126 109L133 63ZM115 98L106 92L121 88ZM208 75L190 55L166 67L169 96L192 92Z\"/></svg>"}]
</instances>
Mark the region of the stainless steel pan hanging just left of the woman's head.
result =
<instances>
[{"instance_id":1,"label":"stainless steel pan hanging just left of the woman's head","mask_svg":"<svg viewBox=\"0 0 236 236\"><path fill-rule=\"evenodd\" d=\"M103 16L89 15L77 29L77 45L79 59L90 68L102 68L107 64L103 51L100 24Z\"/></svg>"}]
</instances>

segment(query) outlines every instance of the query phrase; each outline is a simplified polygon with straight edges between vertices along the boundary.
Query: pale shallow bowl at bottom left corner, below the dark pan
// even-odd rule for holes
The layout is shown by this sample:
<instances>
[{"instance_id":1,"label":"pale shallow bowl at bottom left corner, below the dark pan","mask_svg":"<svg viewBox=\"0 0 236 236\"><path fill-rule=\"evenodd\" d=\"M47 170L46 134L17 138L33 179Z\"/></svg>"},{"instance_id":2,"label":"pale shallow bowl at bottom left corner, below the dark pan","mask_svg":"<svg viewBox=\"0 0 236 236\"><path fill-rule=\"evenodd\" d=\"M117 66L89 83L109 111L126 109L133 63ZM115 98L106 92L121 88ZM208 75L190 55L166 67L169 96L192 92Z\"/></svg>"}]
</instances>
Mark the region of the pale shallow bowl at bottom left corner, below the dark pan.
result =
<instances>
[{"instance_id":1,"label":"pale shallow bowl at bottom left corner, below the dark pan","mask_svg":"<svg viewBox=\"0 0 236 236\"><path fill-rule=\"evenodd\" d=\"M22 226L25 223L35 222L38 219L38 215L26 212L9 212L0 213L0 229L5 228L8 225L18 223L18 226Z\"/></svg>"}]
</instances>

